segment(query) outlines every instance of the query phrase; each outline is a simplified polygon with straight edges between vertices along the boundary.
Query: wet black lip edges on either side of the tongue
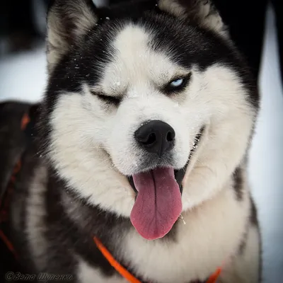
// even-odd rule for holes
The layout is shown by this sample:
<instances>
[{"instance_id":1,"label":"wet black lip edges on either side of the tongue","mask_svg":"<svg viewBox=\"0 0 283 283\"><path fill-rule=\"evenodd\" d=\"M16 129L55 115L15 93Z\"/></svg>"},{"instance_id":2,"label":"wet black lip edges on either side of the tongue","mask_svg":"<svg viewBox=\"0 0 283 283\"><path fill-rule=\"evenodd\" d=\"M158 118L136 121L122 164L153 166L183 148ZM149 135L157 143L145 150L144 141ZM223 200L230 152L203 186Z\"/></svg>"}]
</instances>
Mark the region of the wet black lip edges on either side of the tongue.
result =
<instances>
[{"instance_id":1,"label":"wet black lip edges on either side of the tongue","mask_svg":"<svg viewBox=\"0 0 283 283\"><path fill-rule=\"evenodd\" d=\"M183 178L185 176L185 172L187 171L187 166L190 163L190 158L192 157L192 155L197 150L197 146L200 144L200 140L202 139L202 134L204 133L204 129L205 129L205 127L202 127L200 129L200 132L195 136L195 141L194 141L192 150L190 151L190 155L189 155L189 158L187 159L187 163L185 164L185 166L183 168L178 169L178 170L174 170L175 180L177 181L177 183L180 187L181 193L183 192L182 181L183 181ZM129 185L131 185L134 192L137 193L137 189L134 185L134 180L133 180L132 176L129 176L128 180L129 180Z\"/></svg>"}]
</instances>

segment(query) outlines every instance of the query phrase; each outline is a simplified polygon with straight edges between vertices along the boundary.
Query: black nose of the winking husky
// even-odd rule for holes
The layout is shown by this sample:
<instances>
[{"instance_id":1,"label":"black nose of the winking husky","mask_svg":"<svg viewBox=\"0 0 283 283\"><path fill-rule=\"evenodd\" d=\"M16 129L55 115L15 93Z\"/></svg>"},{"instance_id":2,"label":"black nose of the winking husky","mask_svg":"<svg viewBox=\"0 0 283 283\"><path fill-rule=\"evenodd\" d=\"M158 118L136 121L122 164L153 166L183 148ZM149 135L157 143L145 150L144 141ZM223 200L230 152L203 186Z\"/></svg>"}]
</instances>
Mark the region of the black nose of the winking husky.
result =
<instances>
[{"instance_id":1,"label":"black nose of the winking husky","mask_svg":"<svg viewBox=\"0 0 283 283\"><path fill-rule=\"evenodd\" d=\"M171 125L160 120L152 120L134 133L137 142L151 154L161 157L174 146L175 131Z\"/></svg>"}]
</instances>

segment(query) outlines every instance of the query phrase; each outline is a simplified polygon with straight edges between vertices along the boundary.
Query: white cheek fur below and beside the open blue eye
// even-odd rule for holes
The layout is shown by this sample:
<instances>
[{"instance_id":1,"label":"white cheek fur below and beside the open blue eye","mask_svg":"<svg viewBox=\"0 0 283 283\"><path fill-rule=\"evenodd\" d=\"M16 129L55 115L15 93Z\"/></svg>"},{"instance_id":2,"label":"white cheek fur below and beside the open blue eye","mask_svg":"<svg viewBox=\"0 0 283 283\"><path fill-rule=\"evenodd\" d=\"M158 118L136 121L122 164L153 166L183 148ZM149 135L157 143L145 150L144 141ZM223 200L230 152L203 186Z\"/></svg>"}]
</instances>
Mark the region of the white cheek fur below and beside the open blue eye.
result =
<instances>
[{"instance_id":1,"label":"white cheek fur below and beside the open blue eye","mask_svg":"<svg viewBox=\"0 0 283 283\"><path fill-rule=\"evenodd\" d=\"M206 105L209 129L195 168L183 180L184 210L211 198L226 185L243 162L256 116L248 102L248 90L232 69L214 65L200 76L203 86L194 100L202 108Z\"/></svg>"}]
</instances>

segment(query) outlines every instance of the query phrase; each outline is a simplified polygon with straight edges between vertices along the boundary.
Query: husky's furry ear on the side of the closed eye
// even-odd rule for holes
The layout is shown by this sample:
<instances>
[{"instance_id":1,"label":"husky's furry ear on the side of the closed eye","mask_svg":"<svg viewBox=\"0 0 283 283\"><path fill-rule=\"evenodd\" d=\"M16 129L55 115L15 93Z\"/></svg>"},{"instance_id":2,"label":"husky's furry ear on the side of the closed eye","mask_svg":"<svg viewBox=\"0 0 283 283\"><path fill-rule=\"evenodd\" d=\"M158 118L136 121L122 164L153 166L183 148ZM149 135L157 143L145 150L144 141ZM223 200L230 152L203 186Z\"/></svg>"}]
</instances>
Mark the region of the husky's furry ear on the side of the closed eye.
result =
<instances>
[{"instance_id":1,"label":"husky's furry ear on the side of the closed eye","mask_svg":"<svg viewBox=\"0 0 283 283\"><path fill-rule=\"evenodd\" d=\"M53 0L47 13L47 62L52 71L59 59L98 21L92 0Z\"/></svg>"}]
</instances>

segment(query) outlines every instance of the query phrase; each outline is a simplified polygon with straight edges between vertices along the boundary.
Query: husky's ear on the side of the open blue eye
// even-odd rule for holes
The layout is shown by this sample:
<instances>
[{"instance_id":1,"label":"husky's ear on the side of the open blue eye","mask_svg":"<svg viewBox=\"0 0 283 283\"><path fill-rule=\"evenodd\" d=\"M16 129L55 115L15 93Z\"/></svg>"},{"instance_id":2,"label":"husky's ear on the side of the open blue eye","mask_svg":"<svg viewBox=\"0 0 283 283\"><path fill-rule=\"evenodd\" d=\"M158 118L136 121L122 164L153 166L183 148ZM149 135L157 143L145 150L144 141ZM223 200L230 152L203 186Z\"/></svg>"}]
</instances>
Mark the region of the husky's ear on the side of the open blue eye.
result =
<instances>
[{"instance_id":1,"label":"husky's ear on the side of the open blue eye","mask_svg":"<svg viewBox=\"0 0 283 283\"><path fill-rule=\"evenodd\" d=\"M195 22L197 25L228 36L212 0L158 0L158 7L173 16Z\"/></svg>"}]
</instances>

